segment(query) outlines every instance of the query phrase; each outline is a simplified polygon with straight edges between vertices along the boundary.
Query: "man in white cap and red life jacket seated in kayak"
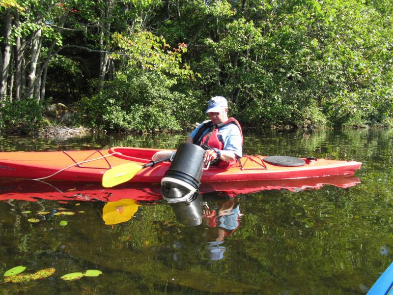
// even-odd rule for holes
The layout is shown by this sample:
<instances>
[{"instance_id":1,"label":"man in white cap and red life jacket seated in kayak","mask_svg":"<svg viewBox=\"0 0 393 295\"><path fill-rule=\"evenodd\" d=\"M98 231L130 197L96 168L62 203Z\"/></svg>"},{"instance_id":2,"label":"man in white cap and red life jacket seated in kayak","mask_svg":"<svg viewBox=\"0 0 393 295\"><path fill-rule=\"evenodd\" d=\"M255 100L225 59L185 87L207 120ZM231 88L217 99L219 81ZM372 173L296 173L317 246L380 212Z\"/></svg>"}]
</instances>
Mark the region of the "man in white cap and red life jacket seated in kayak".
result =
<instances>
[{"instance_id":1,"label":"man in white cap and red life jacket seated in kayak","mask_svg":"<svg viewBox=\"0 0 393 295\"><path fill-rule=\"evenodd\" d=\"M230 167L243 155L243 134L239 122L228 118L228 102L223 96L215 96L207 104L206 114L210 120L204 121L190 133L186 142L206 149L203 160L219 167ZM171 151L159 151L152 160L168 157Z\"/></svg>"}]
</instances>

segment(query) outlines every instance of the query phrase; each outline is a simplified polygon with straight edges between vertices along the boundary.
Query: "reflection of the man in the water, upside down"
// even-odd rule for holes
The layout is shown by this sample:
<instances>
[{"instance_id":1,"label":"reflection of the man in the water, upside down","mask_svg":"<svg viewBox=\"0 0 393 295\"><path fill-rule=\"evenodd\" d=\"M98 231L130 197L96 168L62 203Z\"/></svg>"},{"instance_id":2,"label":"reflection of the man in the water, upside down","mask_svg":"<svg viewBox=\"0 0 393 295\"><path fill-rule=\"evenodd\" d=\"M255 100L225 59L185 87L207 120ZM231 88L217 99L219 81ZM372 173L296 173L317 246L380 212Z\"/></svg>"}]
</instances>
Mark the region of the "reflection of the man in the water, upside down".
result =
<instances>
[{"instance_id":1,"label":"reflection of the man in the water, upside down","mask_svg":"<svg viewBox=\"0 0 393 295\"><path fill-rule=\"evenodd\" d=\"M221 260L224 258L226 250L224 246L225 236L230 236L239 227L240 201L237 198L230 198L224 202L219 202L218 208L210 208L204 204L203 221L209 227L206 236L207 254L211 260Z\"/></svg>"}]
</instances>

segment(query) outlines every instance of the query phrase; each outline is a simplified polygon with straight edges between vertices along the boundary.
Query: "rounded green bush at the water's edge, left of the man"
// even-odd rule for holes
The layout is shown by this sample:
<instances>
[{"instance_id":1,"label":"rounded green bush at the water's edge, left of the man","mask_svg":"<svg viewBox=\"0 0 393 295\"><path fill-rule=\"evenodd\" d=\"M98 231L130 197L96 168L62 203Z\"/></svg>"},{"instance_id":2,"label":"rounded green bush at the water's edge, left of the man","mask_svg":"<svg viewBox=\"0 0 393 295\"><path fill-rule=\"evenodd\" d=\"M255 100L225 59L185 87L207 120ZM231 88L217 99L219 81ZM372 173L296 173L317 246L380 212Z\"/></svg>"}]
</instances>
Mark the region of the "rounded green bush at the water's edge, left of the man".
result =
<instances>
[{"instance_id":1,"label":"rounded green bush at the water's edge, left of the man","mask_svg":"<svg viewBox=\"0 0 393 295\"><path fill-rule=\"evenodd\" d=\"M97 95L80 101L84 123L111 130L180 130L190 119L195 100L171 91L171 82L161 78L142 71L132 78L122 75L107 82Z\"/></svg>"}]
</instances>

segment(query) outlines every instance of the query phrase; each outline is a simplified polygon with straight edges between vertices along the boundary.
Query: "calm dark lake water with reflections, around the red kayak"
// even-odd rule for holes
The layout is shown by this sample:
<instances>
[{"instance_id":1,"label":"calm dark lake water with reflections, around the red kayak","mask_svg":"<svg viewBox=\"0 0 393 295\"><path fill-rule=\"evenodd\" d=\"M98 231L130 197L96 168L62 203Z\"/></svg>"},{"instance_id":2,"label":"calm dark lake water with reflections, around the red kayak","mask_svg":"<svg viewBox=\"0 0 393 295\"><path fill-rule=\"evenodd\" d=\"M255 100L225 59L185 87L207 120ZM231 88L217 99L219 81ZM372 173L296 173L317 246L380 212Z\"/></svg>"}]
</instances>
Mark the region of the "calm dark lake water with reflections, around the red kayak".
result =
<instances>
[{"instance_id":1,"label":"calm dark lake water with reflections, around the red kayak","mask_svg":"<svg viewBox=\"0 0 393 295\"><path fill-rule=\"evenodd\" d=\"M0 150L176 148L186 136L3 137ZM244 151L354 159L363 166L351 185L361 183L261 185L177 204L161 198L159 185L103 193L92 184L1 180L1 280L14 266L56 271L0 283L0 294L365 294L393 261L393 130L246 133ZM64 211L75 214L55 214ZM61 279L87 269L102 274Z\"/></svg>"}]
</instances>

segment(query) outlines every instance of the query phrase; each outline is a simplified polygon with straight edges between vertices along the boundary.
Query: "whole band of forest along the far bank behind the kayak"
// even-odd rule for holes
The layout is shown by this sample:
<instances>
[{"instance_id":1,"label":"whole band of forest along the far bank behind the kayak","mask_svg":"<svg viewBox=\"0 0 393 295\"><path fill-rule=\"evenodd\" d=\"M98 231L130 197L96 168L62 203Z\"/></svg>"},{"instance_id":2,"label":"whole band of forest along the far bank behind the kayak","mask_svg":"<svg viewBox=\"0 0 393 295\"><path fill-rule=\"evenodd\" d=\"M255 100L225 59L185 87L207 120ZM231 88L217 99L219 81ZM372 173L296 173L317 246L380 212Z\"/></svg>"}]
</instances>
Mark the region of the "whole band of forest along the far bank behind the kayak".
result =
<instances>
[{"instance_id":1,"label":"whole band of forest along the far bank behind the kayak","mask_svg":"<svg viewBox=\"0 0 393 295\"><path fill-rule=\"evenodd\" d=\"M0 129L393 125L391 0L0 0Z\"/></svg>"}]
</instances>

